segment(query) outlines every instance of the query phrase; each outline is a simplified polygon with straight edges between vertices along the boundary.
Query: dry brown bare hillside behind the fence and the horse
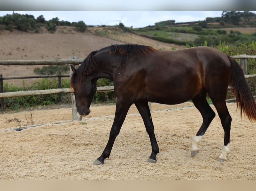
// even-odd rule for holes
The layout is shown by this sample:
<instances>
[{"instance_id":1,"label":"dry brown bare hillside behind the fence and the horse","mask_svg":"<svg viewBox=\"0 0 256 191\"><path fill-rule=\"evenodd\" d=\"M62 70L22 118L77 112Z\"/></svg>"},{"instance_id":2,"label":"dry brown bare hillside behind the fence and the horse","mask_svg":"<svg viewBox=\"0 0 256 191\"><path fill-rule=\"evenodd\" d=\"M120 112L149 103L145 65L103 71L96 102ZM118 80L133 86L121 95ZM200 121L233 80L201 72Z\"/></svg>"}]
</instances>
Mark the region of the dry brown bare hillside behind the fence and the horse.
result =
<instances>
[{"instance_id":1,"label":"dry brown bare hillside behind the fence and the horse","mask_svg":"<svg viewBox=\"0 0 256 191\"><path fill-rule=\"evenodd\" d=\"M76 27L58 26L54 34L41 28L39 33L29 33L13 30L0 31L0 59L1 60L52 60L69 59L70 56L85 58L91 51L98 50L112 44L141 44L153 46L161 50L176 50L184 46L157 42L129 32L112 30L108 35L96 35L103 28L89 28L86 32L79 32ZM105 29L104 29L105 30ZM4 77L34 75L34 68L38 66L0 66L0 73ZM38 79L25 79L25 84ZM4 81L5 83L6 81ZM9 80L9 83L22 85L21 80Z\"/></svg>"}]
</instances>

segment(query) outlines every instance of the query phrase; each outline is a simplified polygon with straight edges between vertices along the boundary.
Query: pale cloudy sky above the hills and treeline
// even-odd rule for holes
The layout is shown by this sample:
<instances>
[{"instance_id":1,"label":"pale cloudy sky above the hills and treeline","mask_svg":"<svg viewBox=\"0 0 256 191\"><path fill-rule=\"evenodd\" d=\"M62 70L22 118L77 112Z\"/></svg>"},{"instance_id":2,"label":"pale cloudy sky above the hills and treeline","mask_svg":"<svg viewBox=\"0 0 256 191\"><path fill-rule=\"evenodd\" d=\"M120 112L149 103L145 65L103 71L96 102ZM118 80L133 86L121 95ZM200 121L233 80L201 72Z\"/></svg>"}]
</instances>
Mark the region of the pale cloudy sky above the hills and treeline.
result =
<instances>
[{"instance_id":1,"label":"pale cloudy sky above the hills and treeline","mask_svg":"<svg viewBox=\"0 0 256 191\"><path fill-rule=\"evenodd\" d=\"M121 21L126 27L139 28L154 25L156 22L175 20L178 22L202 21L206 17L221 17L222 11L14 11L45 20L58 17L60 21L84 21L86 25L116 25ZM256 13L256 11L252 11ZM0 11L0 16L12 11Z\"/></svg>"}]
</instances>

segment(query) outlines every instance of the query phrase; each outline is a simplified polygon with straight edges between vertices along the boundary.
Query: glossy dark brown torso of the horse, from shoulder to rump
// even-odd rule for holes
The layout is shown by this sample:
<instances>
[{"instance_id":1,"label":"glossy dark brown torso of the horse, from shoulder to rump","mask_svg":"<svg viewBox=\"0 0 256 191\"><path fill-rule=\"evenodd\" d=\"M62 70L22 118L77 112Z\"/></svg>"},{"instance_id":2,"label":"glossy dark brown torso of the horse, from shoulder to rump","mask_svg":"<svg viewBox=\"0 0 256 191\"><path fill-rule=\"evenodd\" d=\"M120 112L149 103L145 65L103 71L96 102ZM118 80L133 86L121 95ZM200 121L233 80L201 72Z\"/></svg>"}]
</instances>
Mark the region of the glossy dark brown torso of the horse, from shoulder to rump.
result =
<instances>
[{"instance_id":1,"label":"glossy dark brown torso of the horse, from shoulder to rump","mask_svg":"<svg viewBox=\"0 0 256 191\"><path fill-rule=\"evenodd\" d=\"M227 56L209 47L157 51L133 58L125 67L121 94L135 96L135 101L182 103L221 83L228 86L230 80Z\"/></svg>"}]
</instances>

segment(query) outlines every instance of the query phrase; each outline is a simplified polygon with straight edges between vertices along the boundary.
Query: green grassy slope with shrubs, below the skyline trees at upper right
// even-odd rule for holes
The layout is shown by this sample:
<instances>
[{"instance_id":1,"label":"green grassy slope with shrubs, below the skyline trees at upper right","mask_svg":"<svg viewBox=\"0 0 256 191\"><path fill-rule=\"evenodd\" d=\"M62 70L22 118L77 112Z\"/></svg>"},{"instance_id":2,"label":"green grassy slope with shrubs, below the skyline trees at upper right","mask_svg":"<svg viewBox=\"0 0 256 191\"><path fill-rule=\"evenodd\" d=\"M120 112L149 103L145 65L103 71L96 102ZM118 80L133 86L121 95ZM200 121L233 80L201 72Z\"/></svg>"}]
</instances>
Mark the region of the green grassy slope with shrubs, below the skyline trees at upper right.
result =
<instances>
[{"instance_id":1,"label":"green grassy slope with shrubs, below the skyline trees at upper right","mask_svg":"<svg viewBox=\"0 0 256 191\"><path fill-rule=\"evenodd\" d=\"M178 45L217 46L220 41L228 44L243 44L256 41L256 27L253 24L240 25L209 23L202 27L199 22L172 24L169 26L148 26L133 30L136 34L157 41Z\"/></svg>"}]
</instances>

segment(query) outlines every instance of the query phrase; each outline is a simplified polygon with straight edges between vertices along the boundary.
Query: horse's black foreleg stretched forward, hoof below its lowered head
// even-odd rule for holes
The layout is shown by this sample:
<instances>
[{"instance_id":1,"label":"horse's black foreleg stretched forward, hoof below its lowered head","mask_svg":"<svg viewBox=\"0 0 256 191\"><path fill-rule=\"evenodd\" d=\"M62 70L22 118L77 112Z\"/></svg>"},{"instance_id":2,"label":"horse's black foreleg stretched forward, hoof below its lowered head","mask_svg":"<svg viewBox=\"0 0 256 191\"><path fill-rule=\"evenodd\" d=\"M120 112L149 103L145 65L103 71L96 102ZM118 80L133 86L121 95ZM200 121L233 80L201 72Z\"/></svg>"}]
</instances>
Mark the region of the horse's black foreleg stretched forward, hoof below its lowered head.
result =
<instances>
[{"instance_id":1,"label":"horse's black foreleg stretched forward, hoof below its lowered head","mask_svg":"<svg viewBox=\"0 0 256 191\"><path fill-rule=\"evenodd\" d=\"M124 104L117 102L115 119L114 119L113 125L110 130L108 143L107 143L102 155L99 158L97 158L97 160L95 160L93 164L96 164L96 165L104 164L104 159L109 158L110 152L111 152L113 144L115 142L115 139L120 132L120 129L122 127L122 124L124 122L124 119L126 117L126 114L129 110L130 106L131 105L124 105Z\"/></svg>"}]
</instances>

